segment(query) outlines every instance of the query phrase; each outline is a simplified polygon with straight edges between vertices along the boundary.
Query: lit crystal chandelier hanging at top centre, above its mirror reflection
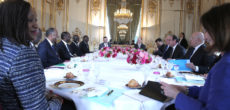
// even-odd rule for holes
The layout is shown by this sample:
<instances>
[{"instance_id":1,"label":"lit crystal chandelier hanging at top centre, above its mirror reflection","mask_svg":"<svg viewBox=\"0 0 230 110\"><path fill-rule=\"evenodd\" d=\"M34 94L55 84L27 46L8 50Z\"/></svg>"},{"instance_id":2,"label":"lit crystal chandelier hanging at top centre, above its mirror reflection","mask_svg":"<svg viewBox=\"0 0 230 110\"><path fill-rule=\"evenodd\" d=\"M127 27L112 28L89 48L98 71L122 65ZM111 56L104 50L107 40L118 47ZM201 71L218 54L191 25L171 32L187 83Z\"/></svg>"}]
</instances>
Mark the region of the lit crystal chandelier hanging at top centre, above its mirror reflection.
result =
<instances>
[{"instance_id":1,"label":"lit crystal chandelier hanging at top centre, above its mirror reflection","mask_svg":"<svg viewBox=\"0 0 230 110\"><path fill-rule=\"evenodd\" d=\"M114 12L114 21L119 24L127 24L133 20L133 13L126 9L126 0L121 1L121 9Z\"/></svg>"}]
</instances>

